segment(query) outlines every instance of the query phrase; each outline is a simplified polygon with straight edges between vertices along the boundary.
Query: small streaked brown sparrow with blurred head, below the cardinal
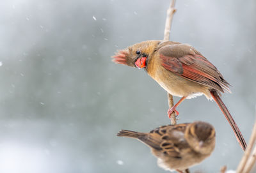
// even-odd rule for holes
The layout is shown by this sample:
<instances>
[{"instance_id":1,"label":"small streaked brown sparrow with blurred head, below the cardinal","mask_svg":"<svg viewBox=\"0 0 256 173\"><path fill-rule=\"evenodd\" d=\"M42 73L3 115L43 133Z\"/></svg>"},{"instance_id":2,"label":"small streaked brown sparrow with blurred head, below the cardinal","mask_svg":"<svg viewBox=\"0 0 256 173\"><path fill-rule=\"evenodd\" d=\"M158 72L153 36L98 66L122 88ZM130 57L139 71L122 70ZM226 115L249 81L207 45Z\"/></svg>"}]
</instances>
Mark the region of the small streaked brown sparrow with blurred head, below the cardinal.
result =
<instances>
[{"instance_id":1,"label":"small streaked brown sparrow with blurred head, below the cardinal","mask_svg":"<svg viewBox=\"0 0 256 173\"><path fill-rule=\"evenodd\" d=\"M202 162L215 146L213 126L201 121L161 126L149 133L121 130L117 136L136 138L147 144L159 167L177 172Z\"/></svg>"}]
</instances>

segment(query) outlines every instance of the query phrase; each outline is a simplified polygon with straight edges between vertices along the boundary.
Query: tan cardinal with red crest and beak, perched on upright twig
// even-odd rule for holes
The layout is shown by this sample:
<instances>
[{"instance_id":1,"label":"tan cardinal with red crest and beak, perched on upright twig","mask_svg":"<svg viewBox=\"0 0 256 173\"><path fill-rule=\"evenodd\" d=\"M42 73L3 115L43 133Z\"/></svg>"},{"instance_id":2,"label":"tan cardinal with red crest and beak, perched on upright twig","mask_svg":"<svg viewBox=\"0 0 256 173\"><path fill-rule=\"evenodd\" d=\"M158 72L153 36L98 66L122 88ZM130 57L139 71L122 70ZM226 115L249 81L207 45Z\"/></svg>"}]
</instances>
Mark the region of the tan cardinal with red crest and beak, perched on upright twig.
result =
<instances>
[{"instance_id":1,"label":"tan cardinal with red crest and beak, perched on upright twig","mask_svg":"<svg viewBox=\"0 0 256 173\"><path fill-rule=\"evenodd\" d=\"M220 71L200 52L188 44L150 40L136 43L120 50L113 56L113 61L127 66L144 68L148 75L173 96L181 99L168 115L186 98L204 94L208 100L214 100L230 123L236 138L245 150L246 142L236 122L222 102L221 93L230 93L229 84Z\"/></svg>"}]
</instances>

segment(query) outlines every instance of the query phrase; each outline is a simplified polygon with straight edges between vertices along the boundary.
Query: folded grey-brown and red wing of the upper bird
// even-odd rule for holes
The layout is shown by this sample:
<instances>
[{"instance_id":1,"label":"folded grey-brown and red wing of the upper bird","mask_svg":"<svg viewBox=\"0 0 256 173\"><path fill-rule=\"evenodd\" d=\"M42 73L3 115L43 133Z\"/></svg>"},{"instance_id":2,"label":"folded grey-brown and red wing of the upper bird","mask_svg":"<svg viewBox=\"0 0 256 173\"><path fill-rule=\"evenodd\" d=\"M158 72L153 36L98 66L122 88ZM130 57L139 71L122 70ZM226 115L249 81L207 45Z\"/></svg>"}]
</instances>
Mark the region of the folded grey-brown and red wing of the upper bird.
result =
<instances>
[{"instance_id":1,"label":"folded grey-brown and red wing of the upper bird","mask_svg":"<svg viewBox=\"0 0 256 173\"><path fill-rule=\"evenodd\" d=\"M220 71L190 45L165 45L159 49L159 55L166 70L218 91L230 92Z\"/></svg>"}]
</instances>

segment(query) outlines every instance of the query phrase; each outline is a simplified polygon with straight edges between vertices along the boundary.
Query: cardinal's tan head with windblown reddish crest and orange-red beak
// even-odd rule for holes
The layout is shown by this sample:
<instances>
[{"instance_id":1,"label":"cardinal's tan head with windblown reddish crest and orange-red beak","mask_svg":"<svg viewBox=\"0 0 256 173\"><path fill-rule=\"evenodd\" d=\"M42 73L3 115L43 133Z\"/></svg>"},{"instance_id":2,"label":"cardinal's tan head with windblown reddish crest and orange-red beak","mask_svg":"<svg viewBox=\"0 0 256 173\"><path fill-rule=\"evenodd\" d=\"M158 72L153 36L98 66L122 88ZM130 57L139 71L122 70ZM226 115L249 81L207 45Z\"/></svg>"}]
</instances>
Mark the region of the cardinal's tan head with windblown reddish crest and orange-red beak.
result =
<instances>
[{"instance_id":1,"label":"cardinal's tan head with windblown reddish crest and orange-red beak","mask_svg":"<svg viewBox=\"0 0 256 173\"><path fill-rule=\"evenodd\" d=\"M131 45L124 50L119 50L113 56L113 62L118 64L125 64L127 66L137 68L147 68L149 57L157 50L157 45L160 41L151 40L143 41Z\"/></svg>"}]
</instances>

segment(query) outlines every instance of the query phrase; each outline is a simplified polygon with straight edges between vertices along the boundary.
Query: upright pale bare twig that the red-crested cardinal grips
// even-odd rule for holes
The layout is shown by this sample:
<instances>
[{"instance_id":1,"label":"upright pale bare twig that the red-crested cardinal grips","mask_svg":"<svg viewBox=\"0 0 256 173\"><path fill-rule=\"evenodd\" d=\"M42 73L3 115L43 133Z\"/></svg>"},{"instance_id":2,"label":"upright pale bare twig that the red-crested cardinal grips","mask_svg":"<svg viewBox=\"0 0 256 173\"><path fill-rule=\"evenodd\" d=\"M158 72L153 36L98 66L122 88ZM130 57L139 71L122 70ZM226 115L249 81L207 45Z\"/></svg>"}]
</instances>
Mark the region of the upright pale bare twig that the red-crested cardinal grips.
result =
<instances>
[{"instance_id":1,"label":"upright pale bare twig that the red-crested cardinal grips","mask_svg":"<svg viewBox=\"0 0 256 173\"><path fill-rule=\"evenodd\" d=\"M170 3L170 7L167 10L165 27L164 27L164 41L168 41L169 38L170 38L170 30L171 30L171 26L172 26L172 19L173 19L173 15L176 11L175 8L174 8L174 5L175 5L175 0L172 0L171 3ZM168 104L169 104L169 108L173 107L173 96L172 96L172 94L169 94L169 93L168 93ZM175 112L172 112L171 124L177 124Z\"/></svg>"}]
</instances>

